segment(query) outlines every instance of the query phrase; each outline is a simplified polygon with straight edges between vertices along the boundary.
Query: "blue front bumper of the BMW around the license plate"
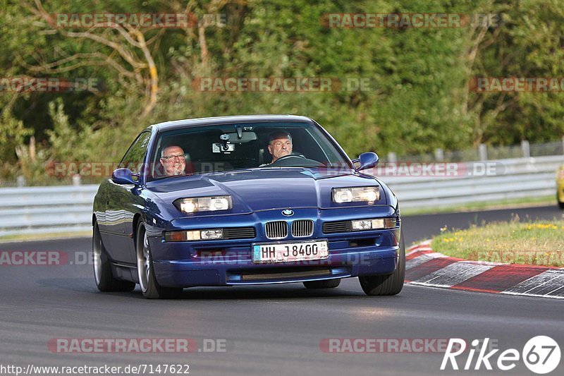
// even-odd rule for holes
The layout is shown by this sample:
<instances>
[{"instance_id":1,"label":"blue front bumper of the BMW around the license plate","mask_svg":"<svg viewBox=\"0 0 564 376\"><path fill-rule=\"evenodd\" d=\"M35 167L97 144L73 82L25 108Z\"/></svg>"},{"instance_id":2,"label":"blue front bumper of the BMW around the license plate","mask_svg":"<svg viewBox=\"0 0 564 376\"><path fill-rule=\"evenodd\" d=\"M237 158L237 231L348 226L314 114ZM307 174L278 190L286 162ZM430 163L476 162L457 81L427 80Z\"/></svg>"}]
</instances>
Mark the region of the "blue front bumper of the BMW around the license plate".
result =
<instances>
[{"instance_id":1,"label":"blue front bumper of the BMW around the license plate","mask_svg":"<svg viewBox=\"0 0 564 376\"><path fill-rule=\"evenodd\" d=\"M393 208L386 205L363 210L357 218L386 217L393 215ZM374 274L391 274L398 264L400 227L396 229L353 231L338 234L324 234L322 222L342 220L348 213L317 209L295 210L293 219L314 219L314 234L308 238L288 238L284 241L311 241L326 239L329 243L329 257L324 260L299 262L273 262L255 264L252 262L252 243L265 243L264 223L279 210L247 214L223 219L216 217L213 226L255 226L256 237L241 240L165 242L162 236L149 238L152 249L155 277L161 286L233 286L245 284L277 284L321 279L357 277ZM315 216L313 214L316 214ZM275 218L279 220L278 217ZM212 221L212 219L209 219ZM221 223L221 221L226 223ZM202 222L200 220L200 222ZM205 222L205 221L204 221ZM211 224L198 223L197 228ZM179 224L177 228L194 229L195 226Z\"/></svg>"}]
</instances>

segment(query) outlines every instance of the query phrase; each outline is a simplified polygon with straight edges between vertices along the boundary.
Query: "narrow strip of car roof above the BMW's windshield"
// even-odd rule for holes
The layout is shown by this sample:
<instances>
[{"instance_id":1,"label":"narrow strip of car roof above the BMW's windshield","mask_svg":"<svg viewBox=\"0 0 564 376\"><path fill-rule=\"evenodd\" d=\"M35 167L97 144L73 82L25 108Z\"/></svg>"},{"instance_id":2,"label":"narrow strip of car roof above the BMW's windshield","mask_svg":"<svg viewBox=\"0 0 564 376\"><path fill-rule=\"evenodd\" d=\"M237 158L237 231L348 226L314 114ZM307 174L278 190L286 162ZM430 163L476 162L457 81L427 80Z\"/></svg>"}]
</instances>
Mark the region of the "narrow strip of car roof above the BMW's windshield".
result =
<instances>
[{"instance_id":1,"label":"narrow strip of car roof above the BMW's windshield","mask_svg":"<svg viewBox=\"0 0 564 376\"><path fill-rule=\"evenodd\" d=\"M275 122L275 121L290 121L290 122L307 122L311 123L312 119L307 116L297 115L237 115L237 116L216 116L212 118L199 118L199 119L183 119L174 121L165 121L163 123L153 124L149 128L157 128L159 131L170 131L178 128L190 128L194 126L208 126L229 123L251 123L251 122Z\"/></svg>"}]
</instances>

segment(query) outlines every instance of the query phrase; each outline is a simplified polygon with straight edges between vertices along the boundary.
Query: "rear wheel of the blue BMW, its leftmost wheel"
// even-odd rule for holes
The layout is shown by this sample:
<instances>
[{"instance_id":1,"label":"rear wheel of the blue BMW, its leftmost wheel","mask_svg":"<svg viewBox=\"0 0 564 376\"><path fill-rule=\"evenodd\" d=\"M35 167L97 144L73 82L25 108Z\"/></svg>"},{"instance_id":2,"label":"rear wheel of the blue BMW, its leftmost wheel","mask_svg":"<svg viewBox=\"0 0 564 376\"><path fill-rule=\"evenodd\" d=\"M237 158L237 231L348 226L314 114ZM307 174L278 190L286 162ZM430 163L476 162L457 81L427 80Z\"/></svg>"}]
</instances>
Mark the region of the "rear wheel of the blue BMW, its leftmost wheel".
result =
<instances>
[{"instance_id":1,"label":"rear wheel of the blue BMW, its leftmost wheel","mask_svg":"<svg viewBox=\"0 0 564 376\"><path fill-rule=\"evenodd\" d=\"M94 269L94 281L99 291L133 291L135 283L131 281L121 281L114 278L111 273L111 265L98 224L94 223L92 229L92 260Z\"/></svg>"}]
</instances>

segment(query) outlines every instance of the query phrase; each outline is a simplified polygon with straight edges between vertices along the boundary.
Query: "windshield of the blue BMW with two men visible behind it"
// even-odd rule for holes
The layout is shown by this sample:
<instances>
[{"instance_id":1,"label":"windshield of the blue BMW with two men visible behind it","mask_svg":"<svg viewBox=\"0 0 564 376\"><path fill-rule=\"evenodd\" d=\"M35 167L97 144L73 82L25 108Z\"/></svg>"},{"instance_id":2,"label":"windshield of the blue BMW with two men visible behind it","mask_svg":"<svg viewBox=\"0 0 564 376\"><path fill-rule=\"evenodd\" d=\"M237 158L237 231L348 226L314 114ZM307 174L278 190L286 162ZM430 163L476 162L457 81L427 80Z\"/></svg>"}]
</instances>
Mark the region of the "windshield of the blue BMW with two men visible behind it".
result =
<instances>
[{"instance_id":1,"label":"windshield of the blue BMW with two men visible behind it","mask_svg":"<svg viewBox=\"0 0 564 376\"><path fill-rule=\"evenodd\" d=\"M350 162L313 123L233 123L162 132L149 180L273 167L347 167Z\"/></svg>"}]
</instances>

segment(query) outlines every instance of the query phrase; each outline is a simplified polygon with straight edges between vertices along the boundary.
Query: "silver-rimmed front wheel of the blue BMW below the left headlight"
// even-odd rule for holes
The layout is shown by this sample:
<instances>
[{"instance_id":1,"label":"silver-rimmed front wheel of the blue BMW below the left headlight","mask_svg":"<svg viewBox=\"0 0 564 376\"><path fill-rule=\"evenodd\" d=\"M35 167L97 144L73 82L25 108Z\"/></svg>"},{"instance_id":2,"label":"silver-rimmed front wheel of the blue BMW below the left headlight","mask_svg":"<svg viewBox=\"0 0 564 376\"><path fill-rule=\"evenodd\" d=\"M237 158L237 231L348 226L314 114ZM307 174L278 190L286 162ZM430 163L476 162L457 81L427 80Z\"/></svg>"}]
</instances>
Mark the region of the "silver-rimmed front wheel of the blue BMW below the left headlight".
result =
<instances>
[{"instance_id":1,"label":"silver-rimmed front wheel of the blue BMW below the left headlight","mask_svg":"<svg viewBox=\"0 0 564 376\"><path fill-rule=\"evenodd\" d=\"M182 293L182 288L164 287L159 285L154 275L153 257L147 239L145 224L137 227L135 238L135 252L137 253L137 276L143 296L147 299L171 299Z\"/></svg>"}]
</instances>

